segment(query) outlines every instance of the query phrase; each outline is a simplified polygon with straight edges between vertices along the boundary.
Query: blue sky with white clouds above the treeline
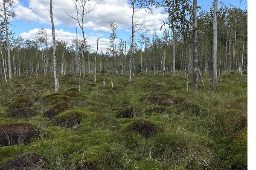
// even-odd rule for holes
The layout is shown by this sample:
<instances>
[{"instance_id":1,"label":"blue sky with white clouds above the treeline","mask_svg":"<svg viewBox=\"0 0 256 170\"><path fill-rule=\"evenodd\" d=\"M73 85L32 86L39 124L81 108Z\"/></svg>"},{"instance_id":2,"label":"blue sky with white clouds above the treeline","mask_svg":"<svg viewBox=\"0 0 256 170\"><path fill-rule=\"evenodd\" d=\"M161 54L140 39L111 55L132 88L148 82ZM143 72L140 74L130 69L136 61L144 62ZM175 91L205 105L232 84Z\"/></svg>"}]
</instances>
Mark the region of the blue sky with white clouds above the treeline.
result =
<instances>
[{"instance_id":1,"label":"blue sky with white clouds above the treeline","mask_svg":"<svg viewBox=\"0 0 256 170\"><path fill-rule=\"evenodd\" d=\"M49 0L14 0L13 11L17 15L12 20L10 28L15 32L15 36L21 35L24 39L35 39L37 32L41 28L47 31L48 41L51 40L52 28L49 17ZM55 23L56 40L71 43L76 38L76 27L78 24L67 14L75 16L73 0L52 0L53 1L53 20ZM89 6L93 6L96 0L90 1ZM241 2L240 2L241 1ZM242 9L247 8L247 0L219 0L226 6L235 6ZM197 0L200 10L209 10L212 0ZM67 13L67 14L66 14ZM131 34L131 8L127 0L104 0L103 3L96 5L94 10L86 15L84 31L87 42L91 45L91 50L96 49L96 39L99 37L99 49L106 51L109 45L109 21L115 21L119 28L116 32L118 40L129 40ZM157 34L161 35L160 27L167 19L167 14L163 8L153 9L152 14L148 14L145 9L135 13L135 20L144 23L152 34L156 29ZM166 27L167 28L167 27ZM78 28L79 38L81 30Z\"/></svg>"}]
</instances>

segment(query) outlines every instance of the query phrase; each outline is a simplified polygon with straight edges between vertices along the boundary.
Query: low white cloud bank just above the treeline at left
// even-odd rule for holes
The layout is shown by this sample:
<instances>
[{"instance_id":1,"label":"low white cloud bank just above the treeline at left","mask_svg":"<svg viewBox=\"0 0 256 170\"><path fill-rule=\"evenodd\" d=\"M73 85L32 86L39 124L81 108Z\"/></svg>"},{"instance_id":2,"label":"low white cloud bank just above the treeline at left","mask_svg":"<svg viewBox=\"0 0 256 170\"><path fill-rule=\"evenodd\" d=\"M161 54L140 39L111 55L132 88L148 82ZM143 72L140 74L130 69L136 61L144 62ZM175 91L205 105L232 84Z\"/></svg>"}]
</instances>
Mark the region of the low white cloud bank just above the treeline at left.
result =
<instances>
[{"instance_id":1,"label":"low white cloud bank just above the treeline at left","mask_svg":"<svg viewBox=\"0 0 256 170\"><path fill-rule=\"evenodd\" d=\"M30 40L35 40L37 37L37 33L40 30L40 28L34 28L32 30L29 30L28 32L23 32L20 35L24 38L24 39L30 39ZM52 29L45 29L48 35L48 42L52 41ZM87 42L90 44L91 46L91 50L92 51L96 51L96 39L97 37L90 37L90 36L86 36L87 37ZM71 44L71 40L72 39L76 39L76 33L70 33L68 31L64 31L63 29L55 29L55 39L56 40L64 40L66 41L69 45ZM79 35L79 39L82 39L82 36ZM107 38L99 38L99 51L106 51L106 48L108 46L108 39Z\"/></svg>"}]
</instances>

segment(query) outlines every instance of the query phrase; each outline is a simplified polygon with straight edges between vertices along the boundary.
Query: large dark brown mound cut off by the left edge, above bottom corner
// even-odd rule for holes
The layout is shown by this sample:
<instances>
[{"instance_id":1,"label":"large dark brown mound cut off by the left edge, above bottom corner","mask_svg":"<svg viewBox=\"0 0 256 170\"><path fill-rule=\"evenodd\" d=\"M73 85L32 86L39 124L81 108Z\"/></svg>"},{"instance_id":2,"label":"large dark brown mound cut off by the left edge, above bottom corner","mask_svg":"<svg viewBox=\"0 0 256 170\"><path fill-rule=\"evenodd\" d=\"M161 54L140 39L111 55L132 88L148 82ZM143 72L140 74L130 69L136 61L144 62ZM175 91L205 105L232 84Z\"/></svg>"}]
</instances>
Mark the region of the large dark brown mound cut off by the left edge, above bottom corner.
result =
<instances>
[{"instance_id":1,"label":"large dark brown mound cut off by the left edge, above bottom corner","mask_svg":"<svg viewBox=\"0 0 256 170\"><path fill-rule=\"evenodd\" d=\"M37 130L29 123L0 125L0 146L29 144L36 135Z\"/></svg>"}]
</instances>

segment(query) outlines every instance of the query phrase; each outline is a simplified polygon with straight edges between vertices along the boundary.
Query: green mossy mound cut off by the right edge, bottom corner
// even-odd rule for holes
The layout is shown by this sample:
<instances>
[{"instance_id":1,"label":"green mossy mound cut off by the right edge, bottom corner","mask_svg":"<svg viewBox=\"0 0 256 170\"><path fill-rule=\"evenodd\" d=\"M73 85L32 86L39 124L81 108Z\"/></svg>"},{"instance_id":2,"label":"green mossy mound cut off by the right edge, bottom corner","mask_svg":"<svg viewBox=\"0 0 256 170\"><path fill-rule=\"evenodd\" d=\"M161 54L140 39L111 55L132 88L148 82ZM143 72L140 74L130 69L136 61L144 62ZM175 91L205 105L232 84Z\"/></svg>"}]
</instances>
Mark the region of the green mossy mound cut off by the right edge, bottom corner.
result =
<instances>
[{"instance_id":1,"label":"green mossy mound cut off by the right edge, bottom corner","mask_svg":"<svg viewBox=\"0 0 256 170\"><path fill-rule=\"evenodd\" d=\"M247 129L233 136L227 148L227 161L234 170L247 169Z\"/></svg>"}]
</instances>

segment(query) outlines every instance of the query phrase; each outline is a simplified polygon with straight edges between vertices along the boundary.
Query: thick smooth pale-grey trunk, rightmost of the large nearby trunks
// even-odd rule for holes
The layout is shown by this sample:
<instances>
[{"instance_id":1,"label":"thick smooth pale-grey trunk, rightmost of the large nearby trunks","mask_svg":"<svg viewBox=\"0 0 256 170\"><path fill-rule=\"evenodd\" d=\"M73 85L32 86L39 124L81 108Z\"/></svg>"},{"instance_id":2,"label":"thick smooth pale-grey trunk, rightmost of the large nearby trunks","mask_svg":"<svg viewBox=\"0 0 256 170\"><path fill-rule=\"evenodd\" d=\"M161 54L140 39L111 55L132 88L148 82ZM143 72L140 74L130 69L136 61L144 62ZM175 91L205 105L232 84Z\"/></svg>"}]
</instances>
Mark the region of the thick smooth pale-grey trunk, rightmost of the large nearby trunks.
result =
<instances>
[{"instance_id":1,"label":"thick smooth pale-grey trunk, rightmost of the large nearby trunks","mask_svg":"<svg viewBox=\"0 0 256 170\"><path fill-rule=\"evenodd\" d=\"M213 37L212 37L212 88L217 88L217 22L218 0L214 0L213 8Z\"/></svg>"}]
</instances>

